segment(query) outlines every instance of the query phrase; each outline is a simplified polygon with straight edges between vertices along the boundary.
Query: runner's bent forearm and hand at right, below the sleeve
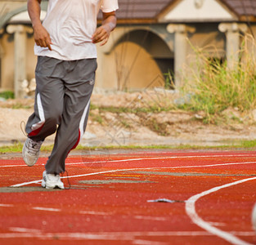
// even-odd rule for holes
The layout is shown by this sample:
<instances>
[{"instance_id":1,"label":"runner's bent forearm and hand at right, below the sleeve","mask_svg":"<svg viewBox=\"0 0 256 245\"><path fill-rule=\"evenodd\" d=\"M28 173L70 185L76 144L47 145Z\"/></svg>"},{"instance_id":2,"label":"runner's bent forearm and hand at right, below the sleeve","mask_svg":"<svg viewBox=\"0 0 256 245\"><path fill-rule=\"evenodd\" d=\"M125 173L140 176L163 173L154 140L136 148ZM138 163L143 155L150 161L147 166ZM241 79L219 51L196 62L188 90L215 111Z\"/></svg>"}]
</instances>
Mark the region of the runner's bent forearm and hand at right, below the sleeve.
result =
<instances>
[{"instance_id":1,"label":"runner's bent forearm and hand at right, below the sleeve","mask_svg":"<svg viewBox=\"0 0 256 245\"><path fill-rule=\"evenodd\" d=\"M115 26L115 11L110 13L103 13L102 25L97 28L96 32L92 35L92 42L101 42L101 46L106 44L110 38L110 33L115 29Z\"/></svg>"}]
</instances>

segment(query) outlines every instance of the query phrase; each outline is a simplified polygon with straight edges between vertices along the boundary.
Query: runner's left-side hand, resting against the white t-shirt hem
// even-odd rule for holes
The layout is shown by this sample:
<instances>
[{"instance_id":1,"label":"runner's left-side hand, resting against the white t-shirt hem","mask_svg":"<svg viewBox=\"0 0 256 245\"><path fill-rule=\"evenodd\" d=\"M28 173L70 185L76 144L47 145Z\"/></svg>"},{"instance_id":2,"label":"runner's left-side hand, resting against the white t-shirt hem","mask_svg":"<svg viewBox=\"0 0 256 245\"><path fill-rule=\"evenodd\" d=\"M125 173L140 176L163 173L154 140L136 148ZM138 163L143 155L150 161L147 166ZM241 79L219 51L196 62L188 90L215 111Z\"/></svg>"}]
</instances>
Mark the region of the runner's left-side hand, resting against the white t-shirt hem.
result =
<instances>
[{"instance_id":1,"label":"runner's left-side hand, resting against the white t-shirt hem","mask_svg":"<svg viewBox=\"0 0 256 245\"><path fill-rule=\"evenodd\" d=\"M48 49L52 51L50 35L41 24L34 26L34 41L38 46L48 47Z\"/></svg>"}]
</instances>

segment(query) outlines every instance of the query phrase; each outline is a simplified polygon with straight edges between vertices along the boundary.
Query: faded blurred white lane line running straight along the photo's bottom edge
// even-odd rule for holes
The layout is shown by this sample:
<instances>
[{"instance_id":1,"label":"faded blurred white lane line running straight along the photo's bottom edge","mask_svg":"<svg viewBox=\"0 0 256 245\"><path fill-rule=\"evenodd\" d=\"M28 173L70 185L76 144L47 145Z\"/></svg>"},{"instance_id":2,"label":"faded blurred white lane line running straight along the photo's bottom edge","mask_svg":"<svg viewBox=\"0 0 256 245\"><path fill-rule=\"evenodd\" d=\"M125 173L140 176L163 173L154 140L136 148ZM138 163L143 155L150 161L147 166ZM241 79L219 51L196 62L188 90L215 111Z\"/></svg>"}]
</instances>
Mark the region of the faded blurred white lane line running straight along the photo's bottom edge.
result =
<instances>
[{"instance_id":1,"label":"faded blurred white lane line running straight along the photo's bottom edge","mask_svg":"<svg viewBox=\"0 0 256 245\"><path fill-rule=\"evenodd\" d=\"M240 233L239 231L233 234L254 237L255 233L247 232ZM213 236L205 231L141 231L141 232L101 232L101 233L43 233L43 232L28 232L28 233L0 233L0 238L42 238L52 239L53 237L60 239L80 239L80 240L134 240L136 237L198 237L198 236Z\"/></svg>"}]
</instances>

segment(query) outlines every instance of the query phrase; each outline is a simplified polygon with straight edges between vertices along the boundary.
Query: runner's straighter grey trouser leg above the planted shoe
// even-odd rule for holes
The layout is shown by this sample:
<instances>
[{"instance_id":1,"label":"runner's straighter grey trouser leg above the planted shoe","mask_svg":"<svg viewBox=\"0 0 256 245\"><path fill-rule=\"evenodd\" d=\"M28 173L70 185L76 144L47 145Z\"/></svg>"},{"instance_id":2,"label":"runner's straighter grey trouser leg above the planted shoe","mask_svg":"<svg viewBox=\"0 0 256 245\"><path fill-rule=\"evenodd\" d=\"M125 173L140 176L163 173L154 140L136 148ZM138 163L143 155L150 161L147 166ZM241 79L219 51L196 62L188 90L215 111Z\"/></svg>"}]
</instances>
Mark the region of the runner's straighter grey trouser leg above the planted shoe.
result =
<instances>
[{"instance_id":1,"label":"runner's straighter grey trouser leg above the planted shoe","mask_svg":"<svg viewBox=\"0 0 256 245\"><path fill-rule=\"evenodd\" d=\"M46 164L48 174L58 175L65 171L65 158L83 136L96 69L96 59L66 62L64 109L54 148Z\"/></svg>"}]
</instances>

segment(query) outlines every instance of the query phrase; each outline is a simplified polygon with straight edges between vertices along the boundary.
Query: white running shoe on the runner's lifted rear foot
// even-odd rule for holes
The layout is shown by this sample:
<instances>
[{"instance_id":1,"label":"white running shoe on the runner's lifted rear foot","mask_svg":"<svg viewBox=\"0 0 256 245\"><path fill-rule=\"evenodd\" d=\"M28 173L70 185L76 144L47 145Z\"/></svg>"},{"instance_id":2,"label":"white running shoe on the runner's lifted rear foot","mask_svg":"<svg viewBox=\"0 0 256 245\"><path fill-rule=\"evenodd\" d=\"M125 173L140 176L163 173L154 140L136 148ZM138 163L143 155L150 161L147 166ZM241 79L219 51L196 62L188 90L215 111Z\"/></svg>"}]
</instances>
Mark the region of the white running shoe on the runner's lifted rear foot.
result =
<instances>
[{"instance_id":1,"label":"white running shoe on the runner's lifted rear foot","mask_svg":"<svg viewBox=\"0 0 256 245\"><path fill-rule=\"evenodd\" d=\"M25 140L22 149L22 157L29 167L37 163L42 144L43 141L34 141L29 138Z\"/></svg>"}]
</instances>

